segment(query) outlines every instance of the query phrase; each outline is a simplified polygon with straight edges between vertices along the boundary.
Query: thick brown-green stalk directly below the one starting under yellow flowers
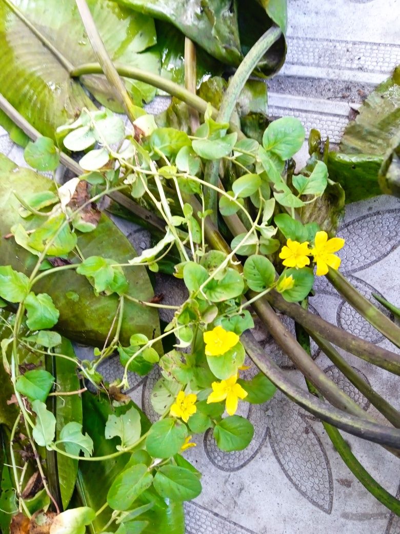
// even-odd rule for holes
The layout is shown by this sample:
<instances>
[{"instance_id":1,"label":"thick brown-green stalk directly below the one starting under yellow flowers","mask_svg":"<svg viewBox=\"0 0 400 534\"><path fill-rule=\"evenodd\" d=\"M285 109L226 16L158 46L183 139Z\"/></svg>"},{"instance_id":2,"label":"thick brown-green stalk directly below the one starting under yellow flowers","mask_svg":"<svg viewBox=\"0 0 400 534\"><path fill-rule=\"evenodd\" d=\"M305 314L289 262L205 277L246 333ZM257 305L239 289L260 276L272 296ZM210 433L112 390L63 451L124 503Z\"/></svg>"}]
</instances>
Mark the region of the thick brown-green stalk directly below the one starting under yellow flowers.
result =
<instances>
[{"instance_id":1,"label":"thick brown-green stalk directly below the one starting under yellow flowers","mask_svg":"<svg viewBox=\"0 0 400 534\"><path fill-rule=\"evenodd\" d=\"M338 345L341 349L351 352L351 354L362 358L366 362L382 367L391 373L400 374L400 356L395 352L369 343L337 326L331 325L321 317L303 310L296 303L286 302L274 290L268 293L265 299L279 311L292 317L308 331L315 332L327 341Z\"/></svg>"}]
</instances>

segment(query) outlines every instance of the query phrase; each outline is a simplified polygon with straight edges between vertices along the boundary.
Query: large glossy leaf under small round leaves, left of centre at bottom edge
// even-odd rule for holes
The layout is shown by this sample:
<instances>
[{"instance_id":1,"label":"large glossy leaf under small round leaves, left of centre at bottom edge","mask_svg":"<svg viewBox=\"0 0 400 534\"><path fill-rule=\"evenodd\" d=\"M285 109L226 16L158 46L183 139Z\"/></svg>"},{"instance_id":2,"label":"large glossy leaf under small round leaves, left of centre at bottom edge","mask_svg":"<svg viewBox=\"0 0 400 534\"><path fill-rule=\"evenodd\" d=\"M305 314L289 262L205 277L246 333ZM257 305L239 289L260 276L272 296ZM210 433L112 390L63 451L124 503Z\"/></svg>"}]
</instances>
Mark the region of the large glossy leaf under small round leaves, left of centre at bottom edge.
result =
<instances>
[{"instance_id":1,"label":"large glossy leaf under small round leaves, left of centre at bottom edge","mask_svg":"<svg viewBox=\"0 0 400 534\"><path fill-rule=\"evenodd\" d=\"M116 451L119 444L118 438L106 439L105 426L106 421L111 414L120 415L122 411L128 411L133 402L124 407L113 409L106 396L94 396L90 393L83 395L83 413L84 427L83 431L87 432L94 443L94 454L104 456ZM139 409L141 417L142 433L145 433L150 422L146 415ZM125 468L130 454L122 454L117 458L101 462L80 462L79 464L79 496L85 506L91 506L98 510L106 502L107 492L114 478ZM101 488L101 491L99 491ZM183 516L183 507L180 502L164 502L159 498L154 490L148 490L138 499L139 504L147 504L154 501L154 506L140 516L141 521L148 521L148 525L142 534L159 534L168 532L168 534L183 534L185 531L185 520ZM139 505L138 504L138 505ZM99 514L93 521L93 533L101 532L104 525L110 517L110 508ZM109 530L109 529L107 529Z\"/></svg>"}]
</instances>

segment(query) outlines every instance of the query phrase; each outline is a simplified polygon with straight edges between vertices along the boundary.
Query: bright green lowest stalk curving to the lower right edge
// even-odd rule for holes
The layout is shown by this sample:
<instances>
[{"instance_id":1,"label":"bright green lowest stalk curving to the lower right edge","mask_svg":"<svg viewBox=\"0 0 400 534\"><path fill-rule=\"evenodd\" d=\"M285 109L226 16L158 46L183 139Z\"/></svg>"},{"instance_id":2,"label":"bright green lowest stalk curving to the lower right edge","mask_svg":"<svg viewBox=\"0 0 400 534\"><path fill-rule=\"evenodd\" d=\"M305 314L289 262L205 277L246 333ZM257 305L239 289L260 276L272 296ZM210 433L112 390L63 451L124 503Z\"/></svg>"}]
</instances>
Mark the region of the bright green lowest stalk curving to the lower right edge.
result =
<instances>
[{"instance_id":1,"label":"bright green lowest stalk curving to the lower right edge","mask_svg":"<svg viewBox=\"0 0 400 534\"><path fill-rule=\"evenodd\" d=\"M308 299L303 301L305 304L303 307L308 308ZM299 343L302 345L303 349L306 350L307 354L311 357L311 348L310 348L310 338L305 329L299 325L295 324L296 337ZM351 367L350 367L351 368ZM358 375L357 375L358 376ZM309 380L306 379L308 390L311 394L318 397L320 400L324 400L323 396L319 391L311 384ZM343 462L350 469L351 473L361 482L364 488L371 493L376 499L378 499L384 506L389 508L395 514L400 515L400 501L393 497L388 491L386 491L382 486L367 472L367 470L360 464L357 458L354 456L353 452L346 441L343 439L339 430L325 421L321 421L322 425L328 435L329 439L332 442L332 445L340 454Z\"/></svg>"}]
</instances>

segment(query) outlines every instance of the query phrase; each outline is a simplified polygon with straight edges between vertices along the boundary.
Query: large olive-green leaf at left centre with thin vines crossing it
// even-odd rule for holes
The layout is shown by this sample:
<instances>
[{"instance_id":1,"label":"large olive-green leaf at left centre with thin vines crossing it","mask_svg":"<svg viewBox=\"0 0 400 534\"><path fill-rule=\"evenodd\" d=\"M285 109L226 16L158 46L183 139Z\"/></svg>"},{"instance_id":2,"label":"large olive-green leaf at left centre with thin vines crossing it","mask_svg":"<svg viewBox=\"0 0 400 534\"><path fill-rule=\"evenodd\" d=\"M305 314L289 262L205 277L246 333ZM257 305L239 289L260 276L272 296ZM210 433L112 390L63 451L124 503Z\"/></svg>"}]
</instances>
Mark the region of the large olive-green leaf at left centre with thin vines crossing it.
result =
<instances>
[{"instance_id":1,"label":"large olive-green leaf at left centre with thin vines crossing it","mask_svg":"<svg viewBox=\"0 0 400 534\"><path fill-rule=\"evenodd\" d=\"M18 169L15 164L0 155L0 234L10 232L11 227L21 223L18 214L19 202L13 191L24 198L29 194L45 190L55 191L52 180L36 174L29 169ZM40 217L42 219L42 217ZM25 219L27 227L35 227L37 216ZM134 248L110 219L102 215L97 228L90 233L78 234L78 246L84 257L103 255L117 262L126 263L136 255ZM37 257L15 244L14 239L2 239L0 242L0 262L12 265L13 269L29 273L36 264ZM76 261L74 255L71 261ZM134 266L125 270L129 283L127 294L139 300L148 301L153 296L146 269ZM55 307L60 311L56 328L60 333L87 344L99 344L106 340L109 328L118 307L118 296L95 296L93 287L87 279L72 271L63 271L43 278L35 286L36 293L51 295ZM78 300L68 299L67 294L74 292ZM124 318L121 329L121 342L129 344L130 336L142 333L151 339L159 332L157 312L149 307L125 302Z\"/></svg>"}]
</instances>

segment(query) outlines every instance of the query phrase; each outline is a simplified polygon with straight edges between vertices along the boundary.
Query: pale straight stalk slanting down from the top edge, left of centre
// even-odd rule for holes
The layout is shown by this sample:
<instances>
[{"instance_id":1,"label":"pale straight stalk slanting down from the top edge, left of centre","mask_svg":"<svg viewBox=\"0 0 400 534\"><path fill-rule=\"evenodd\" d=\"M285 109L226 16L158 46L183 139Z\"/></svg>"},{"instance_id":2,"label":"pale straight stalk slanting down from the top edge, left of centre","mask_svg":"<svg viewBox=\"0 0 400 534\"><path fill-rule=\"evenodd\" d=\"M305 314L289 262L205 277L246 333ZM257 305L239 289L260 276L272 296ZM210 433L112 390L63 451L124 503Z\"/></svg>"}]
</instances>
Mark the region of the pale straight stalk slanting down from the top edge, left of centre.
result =
<instances>
[{"instance_id":1,"label":"pale straight stalk slanting down from the top edge, left of centre","mask_svg":"<svg viewBox=\"0 0 400 534\"><path fill-rule=\"evenodd\" d=\"M113 88L116 98L123 106L126 115L129 117L129 120L133 122L135 119L138 118L138 114L135 111L135 108L137 108L137 106L133 104L133 101L126 90L124 82L119 77L119 74L117 73L113 65L113 61L111 61L111 58L108 55L106 47L103 41L101 40L99 30L97 29L94 23L90 9L86 4L86 0L75 1L78 7L79 14L81 15L81 19L85 27L87 37L89 38L90 44L92 45L94 55L97 57L99 64L101 65L102 71L106 75L107 81L111 85L111 88Z\"/></svg>"}]
</instances>

